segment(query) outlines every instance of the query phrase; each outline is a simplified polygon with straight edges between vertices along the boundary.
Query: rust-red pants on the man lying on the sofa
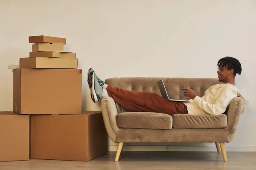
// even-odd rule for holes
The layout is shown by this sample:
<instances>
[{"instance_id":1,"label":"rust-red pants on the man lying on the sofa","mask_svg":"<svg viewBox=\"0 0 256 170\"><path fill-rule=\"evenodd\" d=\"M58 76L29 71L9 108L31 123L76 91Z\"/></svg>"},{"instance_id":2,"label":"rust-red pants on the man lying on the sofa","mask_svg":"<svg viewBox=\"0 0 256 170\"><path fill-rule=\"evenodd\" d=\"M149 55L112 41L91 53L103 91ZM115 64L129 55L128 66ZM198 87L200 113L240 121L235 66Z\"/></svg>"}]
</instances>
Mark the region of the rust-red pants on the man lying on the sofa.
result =
<instances>
[{"instance_id":1,"label":"rust-red pants on the man lying on the sofa","mask_svg":"<svg viewBox=\"0 0 256 170\"><path fill-rule=\"evenodd\" d=\"M158 112L169 115L188 114L187 106L182 102L173 102L154 93L128 91L108 85L108 96L122 107L141 112Z\"/></svg>"}]
</instances>

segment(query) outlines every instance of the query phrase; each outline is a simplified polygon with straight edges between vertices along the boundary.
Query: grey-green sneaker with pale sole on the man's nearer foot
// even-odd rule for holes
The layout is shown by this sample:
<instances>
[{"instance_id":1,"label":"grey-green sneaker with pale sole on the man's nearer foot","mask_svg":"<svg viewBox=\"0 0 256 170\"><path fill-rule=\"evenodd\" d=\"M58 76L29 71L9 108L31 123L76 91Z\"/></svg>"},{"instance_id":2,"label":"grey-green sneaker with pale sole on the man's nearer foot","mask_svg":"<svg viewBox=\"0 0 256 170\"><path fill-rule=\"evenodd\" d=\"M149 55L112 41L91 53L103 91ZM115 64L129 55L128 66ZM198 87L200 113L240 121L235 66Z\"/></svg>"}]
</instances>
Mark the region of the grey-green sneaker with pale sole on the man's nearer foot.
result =
<instances>
[{"instance_id":1,"label":"grey-green sneaker with pale sole on the man's nearer foot","mask_svg":"<svg viewBox=\"0 0 256 170\"><path fill-rule=\"evenodd\" d=\"M96 103L103 98L103 87L99 84L98 80L96 79L96 74L93 71L93 69L90 69L87 73L87 82L90 88L91 98L93 102Z\"/></svg>"}]
</instances>

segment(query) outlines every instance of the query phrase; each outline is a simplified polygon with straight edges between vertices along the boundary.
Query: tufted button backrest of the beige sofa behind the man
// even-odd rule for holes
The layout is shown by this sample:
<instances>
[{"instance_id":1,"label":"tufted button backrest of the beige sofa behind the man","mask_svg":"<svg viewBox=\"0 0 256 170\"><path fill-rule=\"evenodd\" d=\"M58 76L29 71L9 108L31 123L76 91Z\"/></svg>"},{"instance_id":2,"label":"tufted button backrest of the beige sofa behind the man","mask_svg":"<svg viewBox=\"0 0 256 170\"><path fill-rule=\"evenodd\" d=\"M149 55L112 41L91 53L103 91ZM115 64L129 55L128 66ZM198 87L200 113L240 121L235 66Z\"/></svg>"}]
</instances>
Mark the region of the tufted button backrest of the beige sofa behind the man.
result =
<instances>
[{"instance_id":1,"label":"tufted button backrest of the beige sofa behind the man","mask_svg":"<svg viewBox=\"0 0 256 170\"><path fill-rule=\"evenodd\" d=\"M167 93L171 99L186 99L182 88L187 87L195 91L198 96L204 96L204 92L211 86L220 83L217 78L166 78L166 77L124 77L109 78L105 82L128 91L151 92L161 96L157 81L163 79Z\"/></svg>"}]
</instances>

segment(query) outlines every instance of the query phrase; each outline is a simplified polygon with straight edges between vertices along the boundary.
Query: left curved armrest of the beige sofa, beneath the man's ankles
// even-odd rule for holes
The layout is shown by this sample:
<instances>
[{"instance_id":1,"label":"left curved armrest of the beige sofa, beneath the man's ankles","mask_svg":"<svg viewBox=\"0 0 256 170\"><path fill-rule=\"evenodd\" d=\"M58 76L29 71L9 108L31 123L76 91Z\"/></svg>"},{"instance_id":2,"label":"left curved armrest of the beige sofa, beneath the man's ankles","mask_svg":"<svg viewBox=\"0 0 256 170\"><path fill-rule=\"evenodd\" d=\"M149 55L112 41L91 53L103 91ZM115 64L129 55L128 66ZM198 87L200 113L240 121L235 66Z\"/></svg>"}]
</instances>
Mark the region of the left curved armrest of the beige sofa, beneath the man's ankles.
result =
<instances>
[{"instance_id":1,"label":"left curved armrest of the beige sofa, beneath the man's ankles","mask_svg":"<svg viewBox=\"0 0 256 170\"><path fill-rule=\"evenodd\" d=\"M116 134L119 127L116 125L117 109L114 100L111 97L101 99L102 116L108 136L113 142L116 142Z\"/></svg>"}]
</instances>

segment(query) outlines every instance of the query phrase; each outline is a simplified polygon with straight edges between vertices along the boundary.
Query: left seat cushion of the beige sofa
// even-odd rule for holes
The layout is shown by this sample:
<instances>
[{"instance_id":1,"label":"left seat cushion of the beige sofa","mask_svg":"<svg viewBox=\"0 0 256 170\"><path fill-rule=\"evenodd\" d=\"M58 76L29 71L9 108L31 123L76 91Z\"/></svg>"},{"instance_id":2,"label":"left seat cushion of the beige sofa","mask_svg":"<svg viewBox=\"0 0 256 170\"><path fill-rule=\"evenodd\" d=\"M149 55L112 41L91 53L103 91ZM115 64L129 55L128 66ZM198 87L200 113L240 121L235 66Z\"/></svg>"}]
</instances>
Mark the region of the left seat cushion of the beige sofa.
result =
<instances>
[{"instance_id":1,"label":"left seat cushion of the beige sofa","mask_svg":"<svg viewBox=\"0 0 256 170\"><path fill-rule=\"evenodd\" d=\"M118 127L139 129L172 129L172 116L152 112L124 112L116 117Z\"/></svg>"}]
</instances>

